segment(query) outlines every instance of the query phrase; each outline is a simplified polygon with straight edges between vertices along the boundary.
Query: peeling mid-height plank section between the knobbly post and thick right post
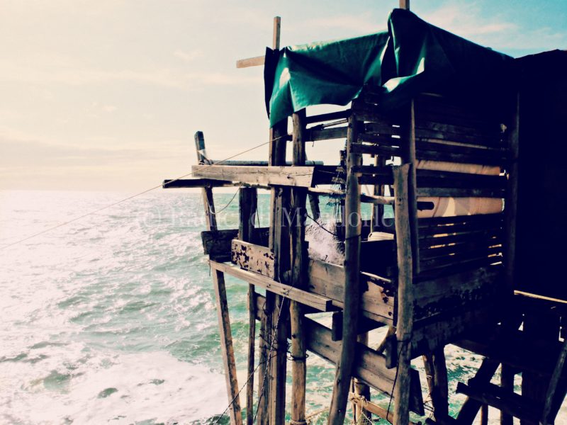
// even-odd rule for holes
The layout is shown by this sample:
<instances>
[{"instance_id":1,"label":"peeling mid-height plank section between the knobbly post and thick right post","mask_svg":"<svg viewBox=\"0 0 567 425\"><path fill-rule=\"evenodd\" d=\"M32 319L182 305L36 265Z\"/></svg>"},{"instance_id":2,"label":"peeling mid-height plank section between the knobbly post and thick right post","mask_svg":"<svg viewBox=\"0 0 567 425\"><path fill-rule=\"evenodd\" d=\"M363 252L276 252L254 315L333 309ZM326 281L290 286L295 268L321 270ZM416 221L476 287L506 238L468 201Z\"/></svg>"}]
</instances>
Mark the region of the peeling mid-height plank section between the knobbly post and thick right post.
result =
<instances>
[{"instance_id":1,"label":"peeling mid-height plank section between the knobbly post and thick right post","mask_svg":"<svg viewBox=\"0 0 567 425\"><path fill-rule=\"evenodd\" d=\"M311 293L332 300L335 307L342 308L344 302L344 267L325 261L311 259L308 266ZM368 289L361 294L360 308L369 319L391 324L394 317L394 297L391 281L371 273L361 273L361 285ZM386 288L384 288L386 286Z\"/></svg>"}]
</instances>

